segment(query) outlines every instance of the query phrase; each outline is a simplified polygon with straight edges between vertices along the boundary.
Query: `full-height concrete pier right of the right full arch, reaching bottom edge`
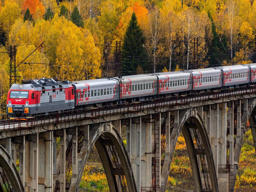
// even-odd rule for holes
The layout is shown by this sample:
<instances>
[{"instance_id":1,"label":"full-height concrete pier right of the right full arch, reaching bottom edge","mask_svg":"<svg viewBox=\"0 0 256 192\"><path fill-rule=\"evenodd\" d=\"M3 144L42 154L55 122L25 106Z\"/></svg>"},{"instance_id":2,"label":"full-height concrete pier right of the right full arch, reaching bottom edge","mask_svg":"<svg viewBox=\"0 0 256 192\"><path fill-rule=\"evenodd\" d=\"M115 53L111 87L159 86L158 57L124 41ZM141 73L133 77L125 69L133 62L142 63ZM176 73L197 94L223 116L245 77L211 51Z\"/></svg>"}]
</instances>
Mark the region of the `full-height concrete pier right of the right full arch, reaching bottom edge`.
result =
<instances>
[{"instance_id":1,"label":"full-height concrete pier right of the right full arch, reaching bottom edge","mask_svg":"<svg viewBox=\"0 0 256 192\"><path fill-rule=\"evenodd\" d=\"M227 103L219 105L221 113L219 113L219 167L218 181L220 192L227 192L229 186L227 164Z\"/></svg>"}]
</instances>

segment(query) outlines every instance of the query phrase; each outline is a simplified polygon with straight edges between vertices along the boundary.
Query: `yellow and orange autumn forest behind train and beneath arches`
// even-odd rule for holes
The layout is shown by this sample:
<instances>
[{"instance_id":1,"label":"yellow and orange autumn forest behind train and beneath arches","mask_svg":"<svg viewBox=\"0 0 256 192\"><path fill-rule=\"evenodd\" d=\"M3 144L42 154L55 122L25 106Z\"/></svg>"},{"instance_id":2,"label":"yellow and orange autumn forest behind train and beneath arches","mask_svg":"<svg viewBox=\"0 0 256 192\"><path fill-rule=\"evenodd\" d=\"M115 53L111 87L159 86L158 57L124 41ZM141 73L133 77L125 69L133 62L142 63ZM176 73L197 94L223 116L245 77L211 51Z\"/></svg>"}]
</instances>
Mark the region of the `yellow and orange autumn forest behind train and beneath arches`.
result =
<instances>
[{"instance_id":1,"label":"yellow and orange autumn forest behind train and beneath arches","mask_svg":"<svg viewBox=\"0 0 256 192\"><path fill-rule=\"evenodd\" d=\"M19 64L44 42L19 65L18 82L115 76L116 66L130 75L256 63L255 20L256 0L0 0L0 114L6 113L10 46L16 46ZM247 136L239 191L256 185ZM170 191L184 189L184 177L191 185L183 137L176 150ZM108 191L97 158L84 172L84 191ZM248 159L253 168L243 171Z\"/></svg>"}]
</instances>

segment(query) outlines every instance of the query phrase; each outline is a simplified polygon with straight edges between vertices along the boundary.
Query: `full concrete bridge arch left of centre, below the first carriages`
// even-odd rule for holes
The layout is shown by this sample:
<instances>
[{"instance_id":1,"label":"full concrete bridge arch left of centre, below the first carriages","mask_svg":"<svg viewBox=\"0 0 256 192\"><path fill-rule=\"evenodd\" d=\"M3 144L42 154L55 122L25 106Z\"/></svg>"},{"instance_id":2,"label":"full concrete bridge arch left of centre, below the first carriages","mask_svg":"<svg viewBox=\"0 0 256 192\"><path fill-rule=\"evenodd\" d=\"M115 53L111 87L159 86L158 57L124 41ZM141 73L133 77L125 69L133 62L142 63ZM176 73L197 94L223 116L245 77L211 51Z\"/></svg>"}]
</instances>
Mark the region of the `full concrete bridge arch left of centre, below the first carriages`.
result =
<instances>
[{"instance_id":1,"label":"full concrete bridge arch left of centre, below the first carriages","mask_svg":"<svg viewBox=\"0 0 256 192\"><path fill-rule=\"evenodd\" d=\"M109 165L109 161L108 161L109 157L108 157L107 151L104 148L105 145L115 146L116 151L118 153L118 157L123 167L122 171L126 178L128 190L129 192L137 192L128 153L126 151L125 145L123 144L122 137L119 135L118 131L116 131L114 126L109 123L104 123L104 124L98 124L97 126L94 126L92 129L90 129L90 132L89 132L88 126L83 128L83 130L85 131L85 140L83 143L83 147L81 148L81 152L79 153L79 156L78 156L77 181L75 181L72 178L69 191L76 192L78 190L79 184L81 182L81 178L83 175L83 170L86 165L86 161L89 157L89 154L90 154L90 151L92 150L93 145L95 144L97 151L101 157L101 161L103 163L103 167L107 176L109 190L111 192L118 192L116 188L116 183L115 183L116 181L112 174L113 170ZM100 137L103 134L109 137L109 140L104 141L105 144L102 144L103 141L101 141L101 137ZM86 135L88 135L88 137ZM88 138L88 140L86 139L86 137Z\"/></svg>"}]
</instances>

